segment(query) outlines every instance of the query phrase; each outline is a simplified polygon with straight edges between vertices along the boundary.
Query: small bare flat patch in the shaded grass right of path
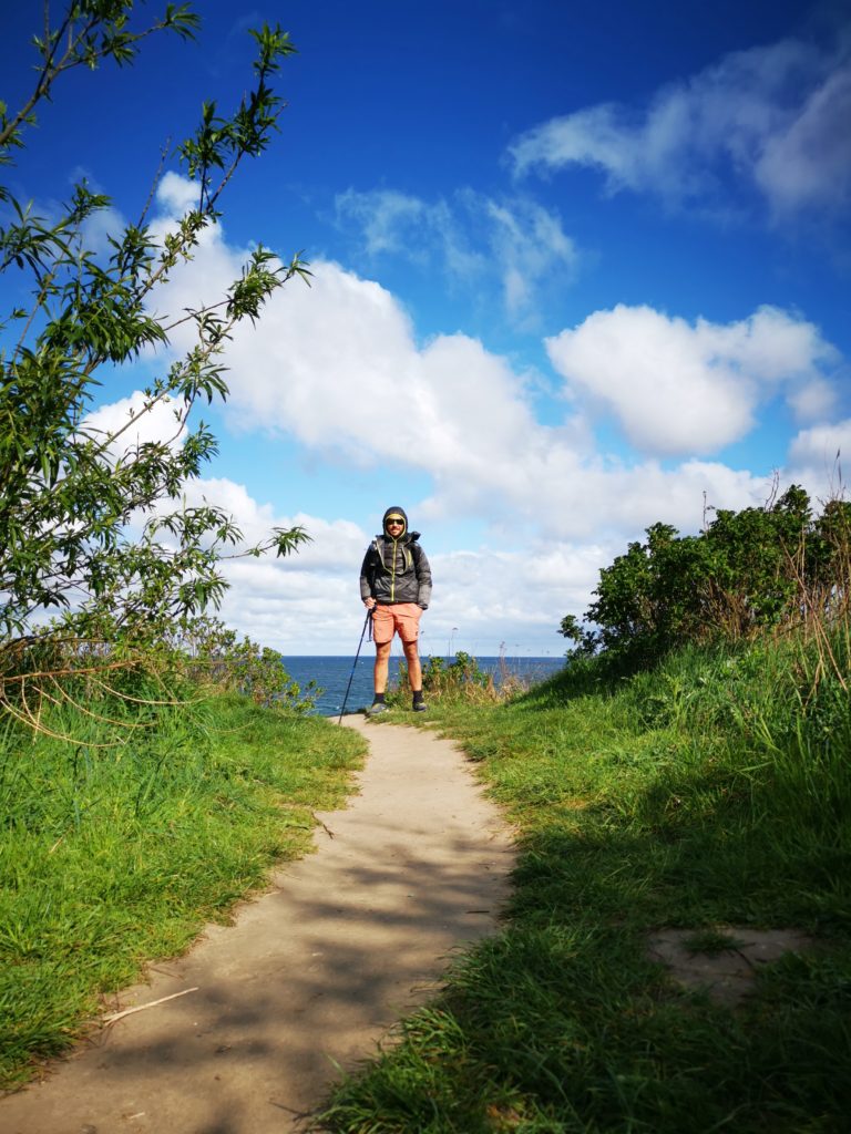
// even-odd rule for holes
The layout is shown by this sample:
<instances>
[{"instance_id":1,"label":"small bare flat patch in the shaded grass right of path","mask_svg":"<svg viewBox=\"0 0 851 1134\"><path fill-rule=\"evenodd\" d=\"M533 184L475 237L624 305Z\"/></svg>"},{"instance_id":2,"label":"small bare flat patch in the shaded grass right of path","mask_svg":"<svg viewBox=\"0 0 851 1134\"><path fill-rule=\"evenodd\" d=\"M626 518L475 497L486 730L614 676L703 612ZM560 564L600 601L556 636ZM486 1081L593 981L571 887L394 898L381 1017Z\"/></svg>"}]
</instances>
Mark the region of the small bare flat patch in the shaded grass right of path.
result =
<instances>
[{"instance_id":1,"label":"small bare flat patch in the shaded grass right of path","mask_svg":"<svg viewBox=\"0 0 851 1134\"><path fill-rule=\"evenodd\" d=\"M701 938L706 938L702 948ZM647 947L649 956L665 965L679 984L701 989L716 1004L734 1008L751 991L760 965L778 960L785 953L803 953L815 943L802 930L730 925L708 933L657 930Z\"/></svg>"}]
</instances>

